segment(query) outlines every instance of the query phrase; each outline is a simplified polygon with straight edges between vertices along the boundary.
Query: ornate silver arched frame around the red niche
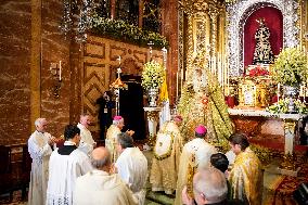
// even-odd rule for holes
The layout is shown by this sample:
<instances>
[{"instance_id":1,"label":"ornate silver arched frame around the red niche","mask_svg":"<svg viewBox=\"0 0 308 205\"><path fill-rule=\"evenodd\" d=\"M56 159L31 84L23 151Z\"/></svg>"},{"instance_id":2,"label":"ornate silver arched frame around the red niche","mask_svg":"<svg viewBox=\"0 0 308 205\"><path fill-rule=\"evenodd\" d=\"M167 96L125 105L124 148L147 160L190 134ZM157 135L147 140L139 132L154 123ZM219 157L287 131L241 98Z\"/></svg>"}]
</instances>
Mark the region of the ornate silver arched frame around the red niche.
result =
<instances>
[{"instance_id":1,"label":"ornate silver arched frame around the red niche","mask_svg":"<svg viewBox=\"0 0 308 205\"><path fill-rule=\"evenodd\" d=\"M246 18L262 7L273 7L281 11L283 16L283 47L296 47L298 44L298 3L295 0L239 0L238 3L227 7L227 53L229 59L229 76L241 76L244 72L243 62L243 30Z\"/></svg>"}]
</instances>

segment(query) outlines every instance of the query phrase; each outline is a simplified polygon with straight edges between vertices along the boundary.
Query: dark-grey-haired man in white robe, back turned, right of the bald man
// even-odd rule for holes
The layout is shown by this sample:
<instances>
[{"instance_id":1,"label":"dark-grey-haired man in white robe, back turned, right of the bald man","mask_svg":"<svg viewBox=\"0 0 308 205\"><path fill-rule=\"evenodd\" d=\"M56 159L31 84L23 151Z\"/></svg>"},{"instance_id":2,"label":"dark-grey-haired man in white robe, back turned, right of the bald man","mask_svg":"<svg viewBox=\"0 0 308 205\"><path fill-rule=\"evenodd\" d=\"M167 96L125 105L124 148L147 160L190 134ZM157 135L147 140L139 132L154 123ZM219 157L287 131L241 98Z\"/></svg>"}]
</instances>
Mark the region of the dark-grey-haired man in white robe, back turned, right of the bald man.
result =
<instances>
[{"instance_id":1,"label":"dark-grey-haired man in white robe, back turned, right of the bald man","mask_svg":"<svg viewBox=\"0 0 308 205\"><path fill-rule=\"evenodd\" d=\"M133 146L133 140L127 132L118 134L117 149L119 156L115 164L116 170L138 198L139 205L143 205L146 192L147 159L139 148Z\"/></svg>"}]
</instances>

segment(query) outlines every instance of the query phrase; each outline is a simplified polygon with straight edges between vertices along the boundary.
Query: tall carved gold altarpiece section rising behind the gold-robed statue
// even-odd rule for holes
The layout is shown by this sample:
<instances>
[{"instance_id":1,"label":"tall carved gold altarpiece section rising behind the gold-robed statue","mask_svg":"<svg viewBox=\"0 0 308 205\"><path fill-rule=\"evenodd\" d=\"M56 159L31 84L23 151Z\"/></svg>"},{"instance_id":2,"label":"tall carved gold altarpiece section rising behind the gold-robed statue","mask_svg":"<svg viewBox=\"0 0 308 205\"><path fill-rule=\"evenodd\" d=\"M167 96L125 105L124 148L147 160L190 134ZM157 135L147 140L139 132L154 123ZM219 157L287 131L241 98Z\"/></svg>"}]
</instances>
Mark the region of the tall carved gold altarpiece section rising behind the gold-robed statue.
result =
<instances>
[{"instance_id":1,"label":"tall carved gold altarpiece section rising behind the gold-robed statue","mask_svg":"<svg viewBox=\"0 0 308 205\"><path fill-rule=\"evenodd\" d=\"M193 60L197 52L206 50L209 68L219 82L227 85L226 5L218 0L179 1L179 71L180 88L193 80Z\"/></svg>"}]
</instances>

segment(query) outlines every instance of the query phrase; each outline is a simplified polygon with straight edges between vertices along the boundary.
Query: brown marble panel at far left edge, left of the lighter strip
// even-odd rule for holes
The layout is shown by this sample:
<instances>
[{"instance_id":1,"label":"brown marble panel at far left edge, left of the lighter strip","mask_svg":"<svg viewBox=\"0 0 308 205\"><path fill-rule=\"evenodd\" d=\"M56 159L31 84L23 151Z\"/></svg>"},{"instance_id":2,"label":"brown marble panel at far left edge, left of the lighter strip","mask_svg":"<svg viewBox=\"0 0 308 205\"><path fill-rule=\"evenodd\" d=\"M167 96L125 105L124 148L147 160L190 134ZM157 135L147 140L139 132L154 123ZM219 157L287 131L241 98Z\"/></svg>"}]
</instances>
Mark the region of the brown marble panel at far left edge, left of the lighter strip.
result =
<instances>
[{"instance_id":1,"label":"brown marble panel at far left edge, left of the lighter strip","mask_svg":"<svg viewBox=\"0 0 308 205\"><path fill-rule=\"evenodd\" d=\"M0 3L0 140L18 142L30 130L30 0Z\"/></svg>"}]
</instances>

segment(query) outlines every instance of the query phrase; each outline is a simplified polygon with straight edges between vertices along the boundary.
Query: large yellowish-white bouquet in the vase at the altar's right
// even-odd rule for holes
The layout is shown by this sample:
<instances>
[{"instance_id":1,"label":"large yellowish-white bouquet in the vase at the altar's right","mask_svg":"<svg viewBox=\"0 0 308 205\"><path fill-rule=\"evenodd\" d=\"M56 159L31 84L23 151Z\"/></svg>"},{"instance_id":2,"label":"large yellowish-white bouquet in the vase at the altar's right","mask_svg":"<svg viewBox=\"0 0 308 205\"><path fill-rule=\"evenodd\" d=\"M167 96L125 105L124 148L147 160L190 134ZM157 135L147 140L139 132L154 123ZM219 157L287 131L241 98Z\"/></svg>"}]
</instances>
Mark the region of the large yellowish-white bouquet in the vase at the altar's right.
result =
<instances>
[{"instance_id":1,"label":"large yellowish-white bouquet in the vase at the altar's right","mask_svg":"<svg viewBox=\"0 0 308 205\"><path fill-rule=\"evenodd\" d=\"M296 48L283 49L274 61L272 77L285 86L298 86L306 81L307 56Z\"/></svg>"}]
</instances>

